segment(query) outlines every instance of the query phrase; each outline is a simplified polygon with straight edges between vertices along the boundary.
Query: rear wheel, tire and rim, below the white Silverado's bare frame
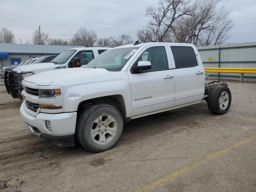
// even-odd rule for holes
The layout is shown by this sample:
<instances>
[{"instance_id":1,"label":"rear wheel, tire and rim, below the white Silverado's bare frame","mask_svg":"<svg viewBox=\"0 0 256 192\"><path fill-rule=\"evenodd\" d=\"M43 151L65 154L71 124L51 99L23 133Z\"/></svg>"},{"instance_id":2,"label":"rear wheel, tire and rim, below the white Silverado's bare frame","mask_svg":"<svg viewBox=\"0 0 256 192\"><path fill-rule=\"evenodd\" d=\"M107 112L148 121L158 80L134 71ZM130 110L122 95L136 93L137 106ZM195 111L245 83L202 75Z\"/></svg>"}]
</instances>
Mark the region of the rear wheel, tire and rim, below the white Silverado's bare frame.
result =
<instances>
[{"instance_id":1,"label":"rear wheel, tire and rim, below the white Silverado's bare frame","mask_svg":"<svg viewBox=\"0 0 256 192\"><path fill-rule=\"evenodd\" d=\"M214 114L225 114L231 105L231 92L226 86L216 86L210 90L207 104L210 112Z\"/></svg>"}]
</instances>

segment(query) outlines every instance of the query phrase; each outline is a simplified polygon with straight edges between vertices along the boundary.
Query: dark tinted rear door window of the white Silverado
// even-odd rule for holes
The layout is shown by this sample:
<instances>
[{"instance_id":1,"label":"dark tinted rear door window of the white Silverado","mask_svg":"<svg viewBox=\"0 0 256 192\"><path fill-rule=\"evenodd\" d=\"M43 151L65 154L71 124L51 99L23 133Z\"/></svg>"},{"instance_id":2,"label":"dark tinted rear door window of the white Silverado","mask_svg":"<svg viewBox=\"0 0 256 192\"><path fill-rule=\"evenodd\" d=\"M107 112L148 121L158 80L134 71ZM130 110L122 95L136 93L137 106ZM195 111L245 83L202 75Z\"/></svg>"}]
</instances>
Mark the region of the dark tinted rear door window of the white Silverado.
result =
<instances>
[{"instance_id":1,"label":"dark tinted rear door window of the white Silverado","mask_svg":"<svg viewBox=\"0 0 256 192\"><path fill-rule=\"evenodd\" d=\"M197 66L194 49L188 46L171 46L176 68Z\"/></svg>"}]
</instances>

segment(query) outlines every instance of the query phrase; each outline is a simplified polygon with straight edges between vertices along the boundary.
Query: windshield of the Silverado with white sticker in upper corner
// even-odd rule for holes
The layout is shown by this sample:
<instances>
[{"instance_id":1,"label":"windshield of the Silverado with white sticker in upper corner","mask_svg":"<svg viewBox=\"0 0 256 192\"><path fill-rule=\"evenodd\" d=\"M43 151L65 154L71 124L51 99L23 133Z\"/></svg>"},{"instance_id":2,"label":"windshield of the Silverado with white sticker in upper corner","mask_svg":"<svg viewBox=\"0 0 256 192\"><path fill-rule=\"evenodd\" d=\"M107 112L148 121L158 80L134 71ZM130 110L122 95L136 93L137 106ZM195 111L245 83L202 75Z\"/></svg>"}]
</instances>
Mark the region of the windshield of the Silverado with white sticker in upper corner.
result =
<instances>
[{"instance_id":1,"label":"windshield of the Silverado with white sticker in upper corner","mask_svg":"<svg viewBox=\"0 0 256 192\"><path fill-rule=\"evenodd\" d=\"M129 47L107 50L88 63L84 68L104 68L108 71L120 71L137 49Z\"/></svg>"}]
</instances>

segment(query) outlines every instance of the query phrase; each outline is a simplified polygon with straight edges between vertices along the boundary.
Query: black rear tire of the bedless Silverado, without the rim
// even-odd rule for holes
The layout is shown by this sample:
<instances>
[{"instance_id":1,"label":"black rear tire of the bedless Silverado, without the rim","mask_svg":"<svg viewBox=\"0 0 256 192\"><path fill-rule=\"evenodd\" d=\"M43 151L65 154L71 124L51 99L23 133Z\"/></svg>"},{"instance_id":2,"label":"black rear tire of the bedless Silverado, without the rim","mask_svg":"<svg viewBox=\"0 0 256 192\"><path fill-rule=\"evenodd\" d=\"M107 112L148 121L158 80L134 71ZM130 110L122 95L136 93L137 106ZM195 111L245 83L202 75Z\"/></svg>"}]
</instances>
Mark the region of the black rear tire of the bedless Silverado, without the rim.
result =
<instances>
[{"instance_id":1,"label":"black rear tire of the bedless Silverado, without the rim","mask_svg":"<svg viewBox=\"0 0 256 192\"><path fill-rule=\"evenodd\" d=\"M224 109L220 107L219 99L220 96L223 92L226 92L228 94L228 104ZM207 99L207 104L208 104L208 109L210 112L213 114L225 114L228 112L230 105L231 105L231 92L230 89L227 86L216 86L212 88L209 92L208 99Z\"/></svg>"}]
</instances>

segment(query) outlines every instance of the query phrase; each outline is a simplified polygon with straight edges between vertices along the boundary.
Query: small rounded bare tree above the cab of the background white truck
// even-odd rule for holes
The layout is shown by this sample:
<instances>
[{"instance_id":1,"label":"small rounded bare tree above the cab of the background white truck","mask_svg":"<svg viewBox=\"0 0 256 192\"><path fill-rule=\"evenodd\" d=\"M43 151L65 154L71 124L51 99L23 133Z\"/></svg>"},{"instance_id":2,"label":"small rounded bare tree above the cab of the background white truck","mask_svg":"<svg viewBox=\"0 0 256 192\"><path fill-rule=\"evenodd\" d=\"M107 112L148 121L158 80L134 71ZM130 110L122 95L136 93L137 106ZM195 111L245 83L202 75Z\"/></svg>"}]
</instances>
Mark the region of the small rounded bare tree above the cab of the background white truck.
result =
<instances>
[{"instance_id":1,"label":"small rounded bare tree above the cab of the background white truck","mask_svg":"<svg viewBox=\"0 0 256 192\"><path fill-rule=\"evenodd\" d=\"M93 46L97 40L97 34L94 30L88 30L87 28L81 27L76 31L70 40L70 44L76 46Z\"/></svg>"}]
</instances>

